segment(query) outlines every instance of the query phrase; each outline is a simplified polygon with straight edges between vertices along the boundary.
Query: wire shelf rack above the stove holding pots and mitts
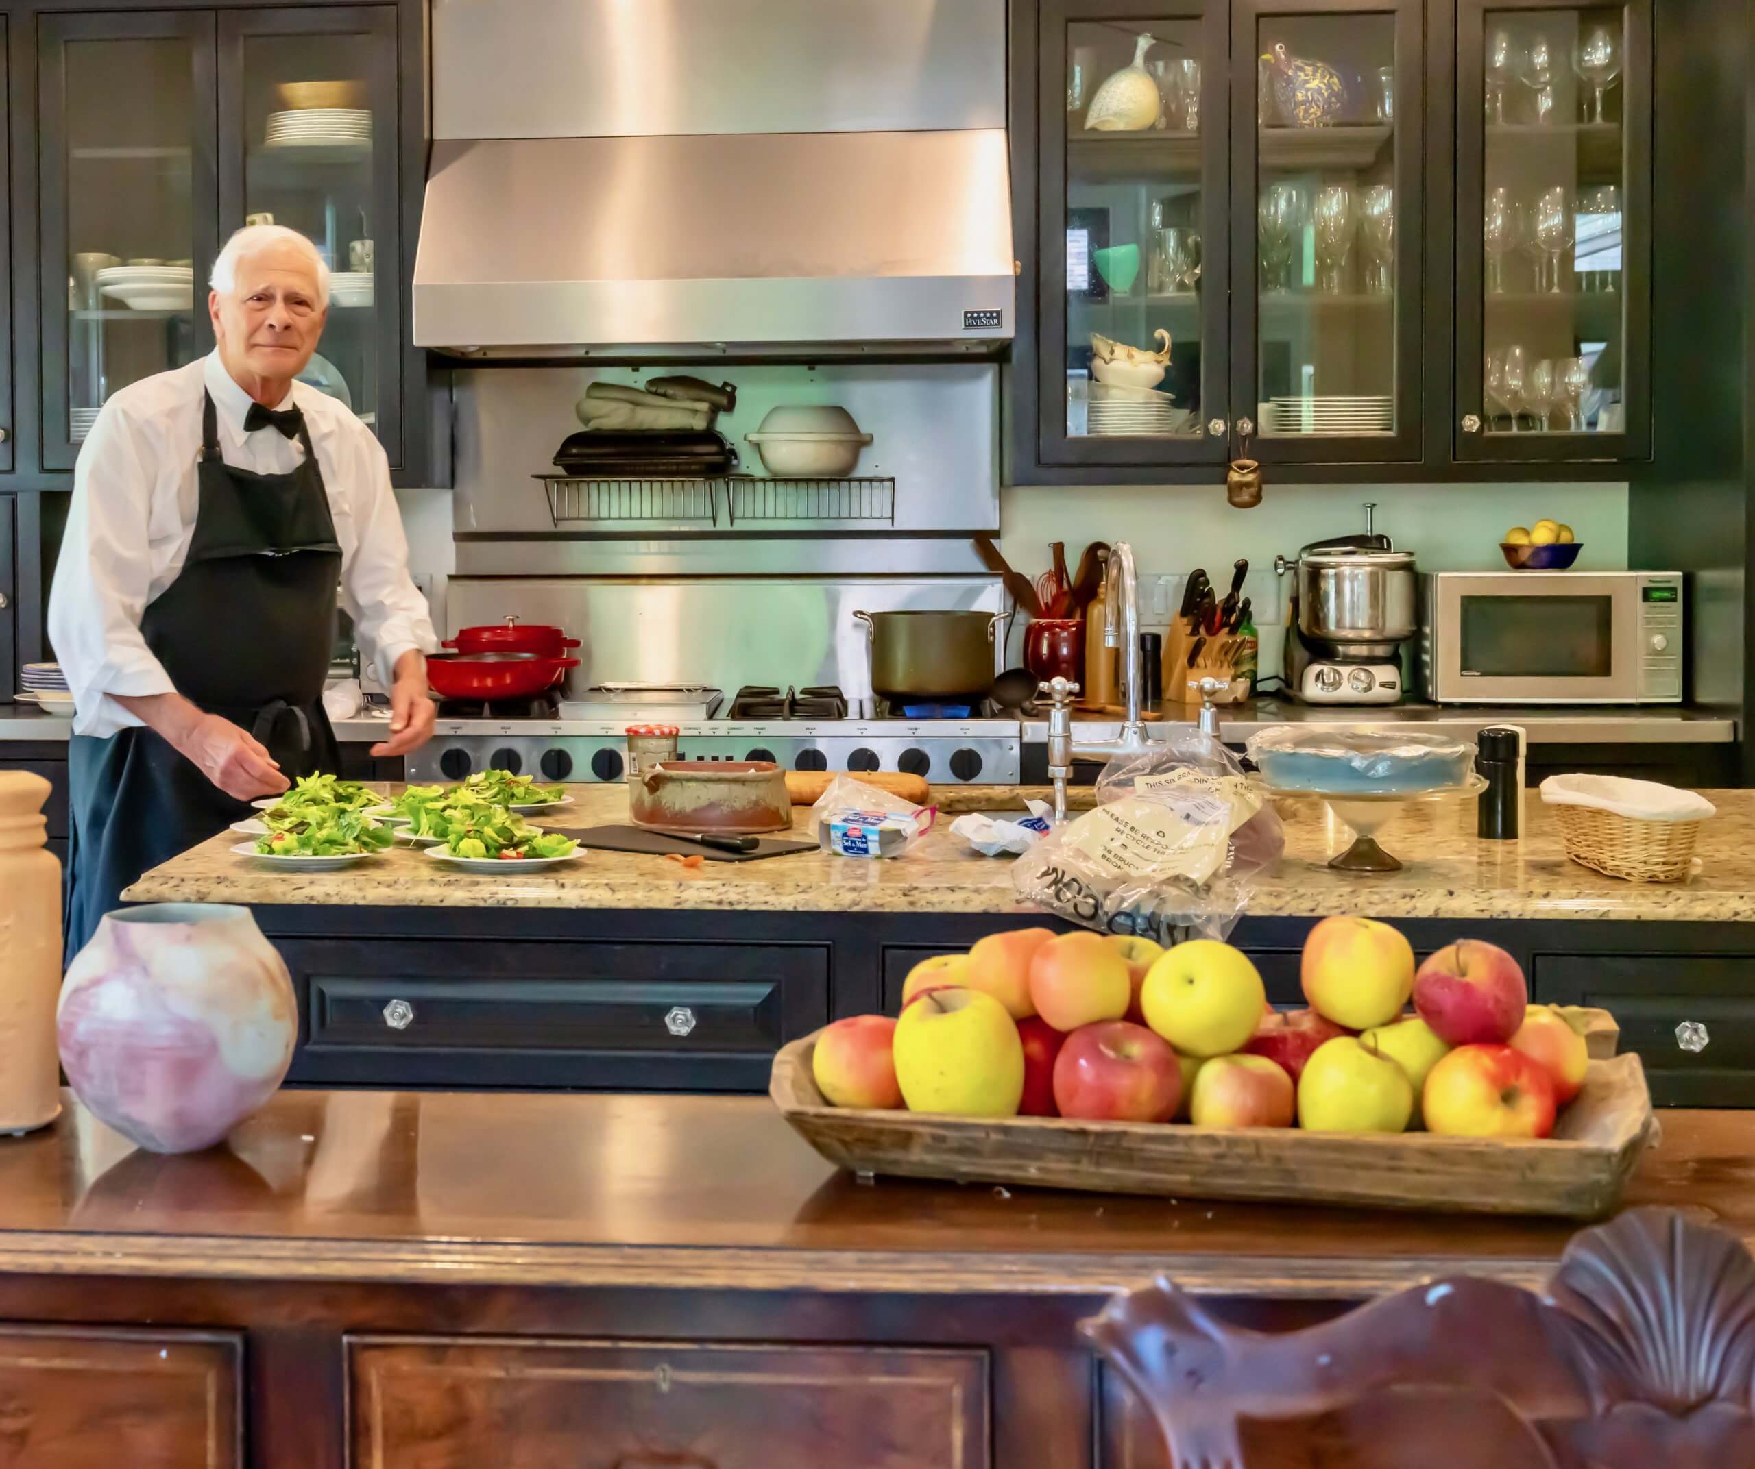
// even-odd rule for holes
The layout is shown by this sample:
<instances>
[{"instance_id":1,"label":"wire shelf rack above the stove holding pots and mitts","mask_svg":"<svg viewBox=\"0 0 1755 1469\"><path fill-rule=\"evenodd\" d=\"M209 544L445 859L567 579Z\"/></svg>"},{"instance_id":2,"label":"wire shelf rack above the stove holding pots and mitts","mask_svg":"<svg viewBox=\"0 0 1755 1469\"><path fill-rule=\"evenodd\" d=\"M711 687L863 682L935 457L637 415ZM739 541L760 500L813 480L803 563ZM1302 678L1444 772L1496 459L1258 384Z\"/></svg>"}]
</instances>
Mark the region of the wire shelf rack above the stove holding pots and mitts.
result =
<instances>
[{"instance_id":1,"label":"wire shelf rack above the stove holding pots and mitts","mask_svg":"<svg viewBox=\"0 0 1755 1469\"><path fill-rule=\"evenodd\" d=\"M667 524L718 526L720 500L727 524L777 521L895 524L895 480L862 479L577 479L537 475L558 526Z\"/></svg>"}]
</instances>

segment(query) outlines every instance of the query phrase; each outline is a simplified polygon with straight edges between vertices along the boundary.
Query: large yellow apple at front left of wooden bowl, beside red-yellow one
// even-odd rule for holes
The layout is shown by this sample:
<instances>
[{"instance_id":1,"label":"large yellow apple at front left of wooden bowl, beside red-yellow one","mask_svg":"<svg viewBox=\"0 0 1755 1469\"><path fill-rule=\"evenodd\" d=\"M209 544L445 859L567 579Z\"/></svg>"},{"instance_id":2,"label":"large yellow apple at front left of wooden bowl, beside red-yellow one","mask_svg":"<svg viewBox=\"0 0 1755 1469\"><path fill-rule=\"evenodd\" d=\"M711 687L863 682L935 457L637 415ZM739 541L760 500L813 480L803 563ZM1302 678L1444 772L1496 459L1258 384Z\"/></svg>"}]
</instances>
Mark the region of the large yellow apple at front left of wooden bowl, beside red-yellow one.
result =
<instances>
[{"instance_id":1,"label":"large yellow apple at front left of wooden bowl, beside red-yellow one","mask_svg":"<svg viewBox=\"0 0 1755 1469\"><path fill-rule=\"evenodd\" d=\"M1023 1101L1018 1025L981 990L927 990L895 1022L895 1080L909 1111L1016 1117Z\"/></svg>"}]
</instances>

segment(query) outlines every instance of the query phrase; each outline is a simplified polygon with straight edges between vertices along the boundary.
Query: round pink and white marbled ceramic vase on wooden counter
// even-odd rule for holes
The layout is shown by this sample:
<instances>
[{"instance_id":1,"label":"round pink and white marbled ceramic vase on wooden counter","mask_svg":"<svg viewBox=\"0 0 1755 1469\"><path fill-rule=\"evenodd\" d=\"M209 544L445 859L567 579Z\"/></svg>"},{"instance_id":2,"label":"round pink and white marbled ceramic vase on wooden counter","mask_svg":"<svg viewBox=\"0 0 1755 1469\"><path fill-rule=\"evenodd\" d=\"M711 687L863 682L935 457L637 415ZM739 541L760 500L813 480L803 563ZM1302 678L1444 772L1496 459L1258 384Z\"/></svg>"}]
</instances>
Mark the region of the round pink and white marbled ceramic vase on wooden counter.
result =
<instances>
[{"instance_id":1,"label":"round pink and white marbled ceramic vase on wooden counter","mask_svg":"<svg viewBox=\"0 0 1755 1469\"><path fill-rule=\"evenodd\" d=\"M188 1153L274 1096L298 1008L247 908L158 903L104 917L67 969L58 1025L91 1113L154 1153Z\"/></svg>"}]
</instances>

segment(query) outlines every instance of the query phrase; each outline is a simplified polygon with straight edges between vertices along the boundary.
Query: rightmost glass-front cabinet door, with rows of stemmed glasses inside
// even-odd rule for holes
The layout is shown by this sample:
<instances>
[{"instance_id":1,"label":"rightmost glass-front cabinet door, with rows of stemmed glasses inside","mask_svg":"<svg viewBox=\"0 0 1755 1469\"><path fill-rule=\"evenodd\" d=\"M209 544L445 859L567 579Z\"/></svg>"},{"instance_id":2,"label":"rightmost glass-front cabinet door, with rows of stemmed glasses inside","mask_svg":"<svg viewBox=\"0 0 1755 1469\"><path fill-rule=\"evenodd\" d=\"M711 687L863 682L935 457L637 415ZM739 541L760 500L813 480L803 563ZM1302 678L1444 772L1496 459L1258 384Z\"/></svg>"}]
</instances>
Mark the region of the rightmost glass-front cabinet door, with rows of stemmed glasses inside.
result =
<instances>
[{"instance_id":1,"label":"rightmost glass-front cabinet door, with rows of stemmed glasses inside","mask_svg":"<svg viewBox=\"0 0 1755 1469\"><path fill-rule=\"evenodd\" d=\"M1650 11L1471 0L1458 26L1458 458L1644 458Z\"/></svg>"}]
</instances>

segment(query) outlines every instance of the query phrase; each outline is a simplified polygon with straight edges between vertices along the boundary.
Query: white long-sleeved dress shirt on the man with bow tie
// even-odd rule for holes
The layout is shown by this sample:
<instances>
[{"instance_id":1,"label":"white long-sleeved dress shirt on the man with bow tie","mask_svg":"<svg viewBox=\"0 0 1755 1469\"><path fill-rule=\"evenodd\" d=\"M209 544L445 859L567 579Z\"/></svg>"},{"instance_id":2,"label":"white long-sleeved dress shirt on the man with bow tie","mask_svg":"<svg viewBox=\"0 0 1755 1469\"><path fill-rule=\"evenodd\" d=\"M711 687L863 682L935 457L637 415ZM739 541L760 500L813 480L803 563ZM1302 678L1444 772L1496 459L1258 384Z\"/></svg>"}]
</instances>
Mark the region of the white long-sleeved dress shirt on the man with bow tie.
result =
<instances>
[{"instance_id":1,"label":"white long-sleeved dress shirt on the man with bow tie","mask_svg":"<svg viewBox=\"0 0 1755 1469\"><path fill-rule=\"evenodd\" d=\"M176 692L140 636L140 614L183 570L195 536L202 389L212 394L221 458L288 473L305 451L276 428L244 433L249 394L219 354L123 387L98 414L74 468L61 559L49 596L49 642L67 673L74 733L105 736L140 720L111 694ZM340 543L340 605L388 685L409 649L435 652L426 600L409 578L409 543L377 438L337 400L293 384L323 472ZM214 608L216 617L225 608Z\"/></svg>"}]
</instances>

